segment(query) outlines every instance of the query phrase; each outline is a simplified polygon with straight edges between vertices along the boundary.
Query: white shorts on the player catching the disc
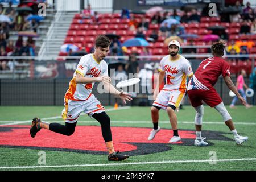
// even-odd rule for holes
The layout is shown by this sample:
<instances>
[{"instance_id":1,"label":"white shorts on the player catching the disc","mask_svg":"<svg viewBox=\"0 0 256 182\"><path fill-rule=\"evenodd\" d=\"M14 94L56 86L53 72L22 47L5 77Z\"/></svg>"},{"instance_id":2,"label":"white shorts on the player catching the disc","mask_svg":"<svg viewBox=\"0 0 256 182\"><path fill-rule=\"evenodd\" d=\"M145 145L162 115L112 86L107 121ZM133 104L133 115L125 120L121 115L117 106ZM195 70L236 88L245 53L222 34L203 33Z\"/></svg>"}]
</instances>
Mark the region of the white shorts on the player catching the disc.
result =
<instances>
[{"instance_id":1,"label":"white shorts on the player catching the disc","mask_svg":"<svg viewBox=\"0 0 256 182\"><path fill-rule=\"evenodd\" d=\"M68 123L76 122L82 112L88 114L90 117L95 113L105 112L101 102L93 94L86 101L72 101L64 98L64 106L62 118Z\"/></svg>"}]
</instances>

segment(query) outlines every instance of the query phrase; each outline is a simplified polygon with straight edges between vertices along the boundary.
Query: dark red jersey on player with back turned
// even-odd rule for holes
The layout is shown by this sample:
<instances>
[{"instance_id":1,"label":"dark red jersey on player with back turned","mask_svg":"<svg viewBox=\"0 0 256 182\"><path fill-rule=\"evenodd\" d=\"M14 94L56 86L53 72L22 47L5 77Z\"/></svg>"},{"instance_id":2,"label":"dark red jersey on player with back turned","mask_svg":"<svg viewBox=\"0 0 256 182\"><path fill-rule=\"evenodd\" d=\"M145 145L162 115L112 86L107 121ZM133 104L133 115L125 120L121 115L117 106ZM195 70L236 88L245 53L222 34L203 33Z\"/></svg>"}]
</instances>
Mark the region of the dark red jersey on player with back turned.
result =
<instances>
[{"instance_id":1,"label":"dark red jersey on player with back turned","mask_svg":"<svg viewBox=\"0 0 256 182\"><path fill-rule=\"evenodd\" d=\"M230 76L229 64L221 57L209 57L200 63L189 82L188 90L209 90L216 84L220 75Z\"/></svg>"}]
</instances>

